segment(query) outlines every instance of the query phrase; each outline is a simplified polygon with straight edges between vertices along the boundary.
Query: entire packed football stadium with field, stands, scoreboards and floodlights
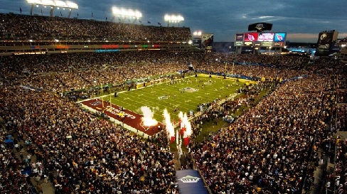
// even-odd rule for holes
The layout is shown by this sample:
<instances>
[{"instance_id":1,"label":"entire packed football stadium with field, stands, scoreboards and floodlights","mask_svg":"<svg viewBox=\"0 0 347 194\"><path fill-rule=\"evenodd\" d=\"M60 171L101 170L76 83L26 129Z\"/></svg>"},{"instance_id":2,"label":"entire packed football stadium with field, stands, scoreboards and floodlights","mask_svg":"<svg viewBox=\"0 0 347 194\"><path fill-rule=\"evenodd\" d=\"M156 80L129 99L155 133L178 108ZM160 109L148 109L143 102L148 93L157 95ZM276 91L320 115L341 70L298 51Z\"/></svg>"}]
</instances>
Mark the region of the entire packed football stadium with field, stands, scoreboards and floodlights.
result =
<instances>
[{"instance_id":1,"label":"entire packed football stadium with field, stands, scoreboards and floodlights","mask_svg":"<svg viewBox=\"0 0 347 194\"><path fill-rule=\"evenodd\" d=\"M0 14L0 193L347 193L337 31L310 57L252 23L221 53L213 33L169 26L179 15L151 26L27 2Z\"/></svg>"}]
</instances>

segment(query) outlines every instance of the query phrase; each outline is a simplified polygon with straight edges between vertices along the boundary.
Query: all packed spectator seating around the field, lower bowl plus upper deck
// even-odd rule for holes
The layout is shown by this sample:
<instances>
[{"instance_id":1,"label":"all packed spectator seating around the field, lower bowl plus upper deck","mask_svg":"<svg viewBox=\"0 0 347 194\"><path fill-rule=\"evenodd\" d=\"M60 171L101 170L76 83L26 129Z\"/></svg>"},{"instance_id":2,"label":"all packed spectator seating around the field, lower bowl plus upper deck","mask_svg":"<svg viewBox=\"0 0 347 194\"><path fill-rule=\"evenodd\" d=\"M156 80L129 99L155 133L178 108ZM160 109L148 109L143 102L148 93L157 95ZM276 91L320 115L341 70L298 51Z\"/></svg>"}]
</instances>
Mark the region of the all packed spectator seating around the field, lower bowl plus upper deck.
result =
<instances>
[{"instance_id":1,"label":"all packed spectator seating around the field, lower bowl plus upper deck","mask_svg":"<svg viewBox=\"0 0 347 194\"><path fill-rule=\"evenodd\" d=\"M0 18L1 40L186 41L190 36L189 28L14 14ZM331 138L331 117L337 130L346 130L346 104L336 105L346 103L344 64L334 60L309 64L308 58L294 56L165 50L0 56L0 193L31 192L28 178L36 176L48 177L55 193L178 192L166 136L141 139L57 94L185 70L187 63L206 72L231 72L234 63L235 75L266 78L242 88L244 99L231 99L224 107L204 104L209 109L193 119L193 137L207 119L219 119L249 103L262 87L274 89L203 144L192 139L193 165L213 193L299 193L313 176L311 163L319 160L318 148ZM297 78L279 82L292 77ZM18 142L25 144L17 147ZM340 141L338 150L346 152L346 143ZM36 163L30 159L33 155ZM337 163L341 181L346 179L346 156L338 155ZM27 167L30 175L22 174ZM338 189L346 192L346 185Z\"/></svg>"}]
</instances>

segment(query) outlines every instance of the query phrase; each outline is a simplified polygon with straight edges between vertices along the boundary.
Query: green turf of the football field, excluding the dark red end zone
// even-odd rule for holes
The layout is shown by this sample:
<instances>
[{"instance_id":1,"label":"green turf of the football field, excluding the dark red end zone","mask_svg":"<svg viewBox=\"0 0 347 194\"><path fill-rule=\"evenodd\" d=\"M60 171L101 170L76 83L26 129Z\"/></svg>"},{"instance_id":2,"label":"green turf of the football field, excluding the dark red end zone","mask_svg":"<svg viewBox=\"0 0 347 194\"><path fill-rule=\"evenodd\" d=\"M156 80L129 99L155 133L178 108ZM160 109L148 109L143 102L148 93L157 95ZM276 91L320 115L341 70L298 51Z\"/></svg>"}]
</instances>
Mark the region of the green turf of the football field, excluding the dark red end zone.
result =
<instances>
[{"instance_id":1,"label":"green turf of the football field, excluding the dark red end zone","mask_svg":"<svg viewBox=\"0 0 347 194\"><path fill-rule=\"evenodd\" d=\"M223 77L186 77L181 81L170 84L163 82L156 85L141 87L137 90L118 92L118 96L104 97L111 99L112 104L117 104L124 109L143 114L141 107L149 107L154 113L154 119L164 121L163 111L167 109L171 120L178 121L178 113L189 114L190 110L197 112L198 105L223 99L237 93L237 89L245 83Z\"/></svg>"}]
</instances>

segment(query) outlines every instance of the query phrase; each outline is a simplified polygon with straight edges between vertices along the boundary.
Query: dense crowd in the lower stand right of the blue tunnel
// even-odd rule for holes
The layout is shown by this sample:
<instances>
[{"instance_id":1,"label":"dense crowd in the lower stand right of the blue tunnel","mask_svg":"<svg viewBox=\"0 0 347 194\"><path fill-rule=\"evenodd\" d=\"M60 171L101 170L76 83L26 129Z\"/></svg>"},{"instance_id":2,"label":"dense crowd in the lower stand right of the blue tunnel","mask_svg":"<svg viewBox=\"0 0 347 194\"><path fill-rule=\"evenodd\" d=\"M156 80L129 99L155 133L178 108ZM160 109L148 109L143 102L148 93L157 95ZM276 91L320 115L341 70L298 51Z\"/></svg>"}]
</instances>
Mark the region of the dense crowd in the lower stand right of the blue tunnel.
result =
<instances>
[{"instance_id":1,"label":"dense crowd in the lower stand right of the blue tunnel","mask_svg":"<svg viewBox=\"0 0 347 194\"><path fill-rule=\"evenodd\" d=\"M327 80L286 82L228 128L192 147L213 193L299 193L311 156L326 136ZM311 153L309 152L311 151ZM314 157L318 160L317 157Z\"/></svg>"}]
</instances>

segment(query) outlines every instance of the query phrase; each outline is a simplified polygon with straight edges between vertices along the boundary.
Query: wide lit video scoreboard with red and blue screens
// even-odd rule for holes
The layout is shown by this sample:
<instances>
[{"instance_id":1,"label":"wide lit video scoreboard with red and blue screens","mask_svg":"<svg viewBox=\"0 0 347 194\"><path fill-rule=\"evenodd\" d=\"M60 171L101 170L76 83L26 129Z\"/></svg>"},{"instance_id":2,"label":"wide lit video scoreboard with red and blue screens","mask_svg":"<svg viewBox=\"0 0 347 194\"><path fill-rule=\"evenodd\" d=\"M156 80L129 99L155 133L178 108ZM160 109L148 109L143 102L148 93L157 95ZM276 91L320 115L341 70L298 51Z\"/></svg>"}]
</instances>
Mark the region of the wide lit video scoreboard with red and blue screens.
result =
<instances>
[{"instance_id":1,"label":"wide lit video scoreboard with red and blue screens","mask_svg":"<svg viewBox=\"0 0 347 194\"><path fill-rule=\"evenodd\" d=\"M287 33L284 32L247 32L235 34L235 46L284 48Z\"/></svg>"}]
</instances>

